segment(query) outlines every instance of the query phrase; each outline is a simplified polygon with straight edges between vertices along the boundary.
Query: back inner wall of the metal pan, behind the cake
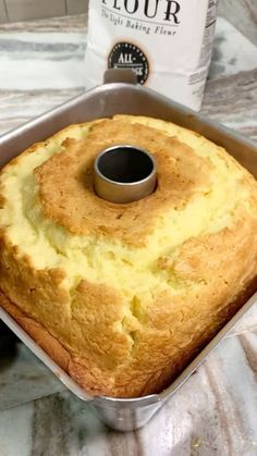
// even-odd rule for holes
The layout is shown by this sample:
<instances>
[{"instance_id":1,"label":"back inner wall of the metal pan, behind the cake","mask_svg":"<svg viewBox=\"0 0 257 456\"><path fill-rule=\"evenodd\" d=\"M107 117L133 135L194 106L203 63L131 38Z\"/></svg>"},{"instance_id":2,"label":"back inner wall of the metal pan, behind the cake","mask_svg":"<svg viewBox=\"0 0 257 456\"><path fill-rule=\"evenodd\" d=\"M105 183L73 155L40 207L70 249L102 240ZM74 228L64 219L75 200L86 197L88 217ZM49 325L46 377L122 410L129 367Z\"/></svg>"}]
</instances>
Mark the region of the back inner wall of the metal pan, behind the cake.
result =
<instances>
[{"instance_id":1,"label":"back inner wall of the metal pan, behind the cake","mask_svg":"<svg viewBox=\"0 0 257 456\"><path fill-rule=\"evenodd\" d=\"M254 141L154 90L124 83L99 86L0 136L0 168L33 143L45 140L72 123L117 113L159 118L193 130L224 147L257 177Z\"/></svg>"}]
</instances>

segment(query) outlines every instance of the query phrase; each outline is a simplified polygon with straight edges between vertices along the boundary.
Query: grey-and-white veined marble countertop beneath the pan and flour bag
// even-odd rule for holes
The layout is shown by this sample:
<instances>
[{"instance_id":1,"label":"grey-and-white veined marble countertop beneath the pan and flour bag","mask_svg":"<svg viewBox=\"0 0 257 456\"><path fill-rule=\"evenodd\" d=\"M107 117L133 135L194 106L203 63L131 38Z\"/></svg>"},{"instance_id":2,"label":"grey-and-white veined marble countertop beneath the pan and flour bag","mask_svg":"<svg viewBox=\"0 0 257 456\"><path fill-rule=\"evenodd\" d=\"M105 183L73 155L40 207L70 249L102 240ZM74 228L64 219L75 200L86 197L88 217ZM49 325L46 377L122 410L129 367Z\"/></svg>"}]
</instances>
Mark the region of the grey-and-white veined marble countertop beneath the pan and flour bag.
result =
<instances>
[{"instance_id":1,"label":"grey-and-white veined marble countertop beneath the pan and flour bag","mask_svg":"<svg viewBox=\"0 0 257 456\"><path fill-rule=\"evenodd\" d=\"M0 134L85 89L85 15L0 26ZM223 19L201 112L257 140L257 48ZM257 305L145 428L124 434L0 334L0 456L257 455Z\"/></svg>"}]
</instances>

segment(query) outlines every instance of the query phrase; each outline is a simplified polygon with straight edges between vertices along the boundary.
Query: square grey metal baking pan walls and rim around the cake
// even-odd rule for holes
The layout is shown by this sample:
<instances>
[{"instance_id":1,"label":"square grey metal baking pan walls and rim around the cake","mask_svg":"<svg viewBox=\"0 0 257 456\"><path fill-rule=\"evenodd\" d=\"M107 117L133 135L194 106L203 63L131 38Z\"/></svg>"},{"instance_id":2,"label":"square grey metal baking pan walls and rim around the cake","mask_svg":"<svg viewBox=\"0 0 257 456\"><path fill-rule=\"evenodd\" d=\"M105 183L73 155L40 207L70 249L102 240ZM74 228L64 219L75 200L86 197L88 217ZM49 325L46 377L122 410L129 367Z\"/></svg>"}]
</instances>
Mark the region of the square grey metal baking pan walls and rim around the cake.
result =
<instances>
[{"instance_id":1,"label":"square grey metal baking pan walls and rim around the cake","mask_svg":"<svg viewBox=\"0 0 257 456\"><path fill-rule=\"evenodd\" d=\"M119 75L109 73L107 75L108 84L83 94L1 136L0 167L8 163L33 143L45 140L70 124L123 113L159 118L194 130L213 143L225 147L257 177L257 149L253 141L150 89L133 84L133 78L130 79L130 84L124 82L126 75L120 75L121 73ZM123 78L122 83L110 82L120 77ZM242 306L167 390L160 394L133 399L88 396L2 308L0 308L0 318L75 396L94 406L97 415L106 424L120 431L131 431L144 426L161 405L182 386L254 303L257 303L257 293Z\"/></svg>"}]
</instances>

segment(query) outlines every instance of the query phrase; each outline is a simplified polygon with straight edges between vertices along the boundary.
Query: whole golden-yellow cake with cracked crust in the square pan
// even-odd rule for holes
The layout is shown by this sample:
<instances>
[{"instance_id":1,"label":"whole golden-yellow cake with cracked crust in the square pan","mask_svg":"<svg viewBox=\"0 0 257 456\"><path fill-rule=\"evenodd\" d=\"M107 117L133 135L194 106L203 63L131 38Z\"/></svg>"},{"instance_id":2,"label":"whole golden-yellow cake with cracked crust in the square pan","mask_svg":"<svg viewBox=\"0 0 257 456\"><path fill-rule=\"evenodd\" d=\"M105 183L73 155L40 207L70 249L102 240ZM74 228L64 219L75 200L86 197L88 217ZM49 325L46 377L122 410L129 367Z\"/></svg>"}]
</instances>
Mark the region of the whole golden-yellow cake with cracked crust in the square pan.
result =
<instances>
[{"instance_id":1,"label":"whole golden-yellow cake with cracked crust in the square pan","mask_svg":"<svg viewBox=\"0 0 257 456\"><path fill-rule=\"evenodd\" d=\"M96 156L121 144L157 163L155 193L126 205L97 197L93 182ZM96 120L0 173L0 303L90 395L162 391L256 275L257 183L194 132Z\"/></svg>"}]
</instances>

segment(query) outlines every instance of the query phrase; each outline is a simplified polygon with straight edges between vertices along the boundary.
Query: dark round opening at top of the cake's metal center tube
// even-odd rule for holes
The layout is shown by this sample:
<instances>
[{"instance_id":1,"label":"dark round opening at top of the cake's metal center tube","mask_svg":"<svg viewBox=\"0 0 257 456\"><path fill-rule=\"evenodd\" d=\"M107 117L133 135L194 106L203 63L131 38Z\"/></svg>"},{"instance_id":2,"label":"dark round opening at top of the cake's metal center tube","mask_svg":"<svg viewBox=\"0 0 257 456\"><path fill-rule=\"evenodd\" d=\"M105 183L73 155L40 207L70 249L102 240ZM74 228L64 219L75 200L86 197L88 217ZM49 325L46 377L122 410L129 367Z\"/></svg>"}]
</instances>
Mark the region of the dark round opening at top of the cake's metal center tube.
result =
<instances>
[{"instance_id":1,"label":"dark round opening at top of the cake's metal center tube","mask_svg":"<svg viewBox=\"0 0 257 456\"><path fill-rule=\"evenodd\" d=\"M115 146L98 157L96 167L109 181L132 184L144 181L155 170L151 157L134 146Z\"/></svg>"}]
</instances>

